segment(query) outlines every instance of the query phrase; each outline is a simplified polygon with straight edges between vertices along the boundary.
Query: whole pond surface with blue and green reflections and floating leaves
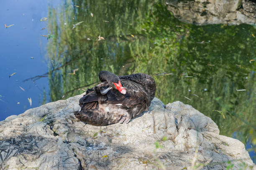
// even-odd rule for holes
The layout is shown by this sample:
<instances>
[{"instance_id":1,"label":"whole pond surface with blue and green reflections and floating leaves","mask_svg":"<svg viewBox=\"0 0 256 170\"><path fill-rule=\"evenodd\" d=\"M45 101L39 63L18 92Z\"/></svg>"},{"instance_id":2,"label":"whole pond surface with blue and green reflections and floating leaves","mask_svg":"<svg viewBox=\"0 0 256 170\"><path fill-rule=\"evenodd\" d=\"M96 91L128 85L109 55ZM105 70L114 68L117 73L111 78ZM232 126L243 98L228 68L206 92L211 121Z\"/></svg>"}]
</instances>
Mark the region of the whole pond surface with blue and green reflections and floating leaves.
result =
<instances>
[{"instance_id":1,"label":"whole pond surface with blue and green reflections and floating leaves","mask_svg":"<svg viewBox=\"0 0 256 170\"><path fill-rule=\"evenodd\" d=\"M100 70L143 72L156 97L211 117L255 162L255 26L182 23L156 0L9 0L0 16L0 120L81 94Z\"/></svg>"}]
</instances>

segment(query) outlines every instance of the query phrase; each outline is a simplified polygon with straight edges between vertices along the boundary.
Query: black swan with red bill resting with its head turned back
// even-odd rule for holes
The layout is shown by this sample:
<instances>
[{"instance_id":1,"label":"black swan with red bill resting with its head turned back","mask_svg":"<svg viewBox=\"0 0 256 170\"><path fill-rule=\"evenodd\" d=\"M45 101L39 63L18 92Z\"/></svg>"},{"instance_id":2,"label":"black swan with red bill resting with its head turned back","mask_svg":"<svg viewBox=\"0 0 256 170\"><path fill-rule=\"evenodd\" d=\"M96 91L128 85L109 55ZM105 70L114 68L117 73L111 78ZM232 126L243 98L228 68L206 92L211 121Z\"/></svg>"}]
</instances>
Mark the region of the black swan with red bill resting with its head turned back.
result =
<instances>
[{"instance_id":1,"label":"black swan with red bill resting with its head turned back","mask_svg":"<svg viewBox=\"0 0 256 170\"><path fill-rule=\"evenodd\" d=\"M88 89L79 100L81 109L74 115L88 124L102 126L128 123L147 110L155 97L155 80L147 74L117 76L99 73L101 83Z\"/></svg>"}]
</instances>

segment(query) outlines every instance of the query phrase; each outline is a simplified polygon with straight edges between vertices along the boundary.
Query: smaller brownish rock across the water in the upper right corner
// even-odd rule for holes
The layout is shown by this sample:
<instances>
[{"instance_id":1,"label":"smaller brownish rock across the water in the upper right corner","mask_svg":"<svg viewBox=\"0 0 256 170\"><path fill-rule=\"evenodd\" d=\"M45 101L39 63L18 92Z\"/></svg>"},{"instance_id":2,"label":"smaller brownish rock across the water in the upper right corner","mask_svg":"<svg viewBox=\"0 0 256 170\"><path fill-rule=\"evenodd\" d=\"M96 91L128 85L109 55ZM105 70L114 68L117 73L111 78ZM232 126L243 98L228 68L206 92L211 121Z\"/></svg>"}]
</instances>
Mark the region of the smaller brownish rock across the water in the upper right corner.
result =
<instances>
[{"instance_id":1,"label":"smaller brownish rock across the water in the upper right corner","mask_svg":"<svg viewBox=\"0 0 256 170\"><path fill-rule=\"evenodd\" d=\"M166 0L168 10L195 25L256 23L255 0Z\"/></svg>"}]
</instances>

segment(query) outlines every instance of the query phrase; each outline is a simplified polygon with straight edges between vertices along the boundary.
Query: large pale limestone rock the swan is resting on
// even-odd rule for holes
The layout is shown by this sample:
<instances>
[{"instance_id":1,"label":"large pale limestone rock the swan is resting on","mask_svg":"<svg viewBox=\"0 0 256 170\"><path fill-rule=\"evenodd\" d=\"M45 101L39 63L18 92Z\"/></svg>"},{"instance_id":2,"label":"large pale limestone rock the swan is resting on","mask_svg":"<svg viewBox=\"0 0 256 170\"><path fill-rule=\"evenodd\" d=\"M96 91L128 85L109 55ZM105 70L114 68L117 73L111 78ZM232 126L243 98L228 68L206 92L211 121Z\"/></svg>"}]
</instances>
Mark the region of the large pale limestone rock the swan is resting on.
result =
<instances>
[{"instance_id":1,"label":"large pale limestone rock the swan is resting on","mask_svg":"<svg viewBox=\"0 0 256 170\"><path fill-rule=\"evenodd\" d=\"M149 111L128 124L93 126L73 114L80 97L1 121L0 169L182 170L197 158L210 160L202 169L225 169L230 160L233 169L256 170L240 141L219 135L215 122L190 105L165 106L154 98Z\"/></svg>"}]
</instances>

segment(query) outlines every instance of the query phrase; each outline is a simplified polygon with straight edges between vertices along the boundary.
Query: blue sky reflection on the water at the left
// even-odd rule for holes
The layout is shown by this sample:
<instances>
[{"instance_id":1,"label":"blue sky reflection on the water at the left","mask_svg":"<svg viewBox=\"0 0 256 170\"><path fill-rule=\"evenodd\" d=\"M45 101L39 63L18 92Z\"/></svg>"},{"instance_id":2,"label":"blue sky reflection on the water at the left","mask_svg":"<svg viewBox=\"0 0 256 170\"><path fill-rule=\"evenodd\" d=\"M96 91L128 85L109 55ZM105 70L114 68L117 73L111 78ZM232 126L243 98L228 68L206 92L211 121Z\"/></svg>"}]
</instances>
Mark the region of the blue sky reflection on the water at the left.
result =
<instances>
[{"instance_id":1,"label":"blue sky reflection on the water at the left","mask_svg":"<svg viewBox=\"0 0 256 170\"><path fill-rule=\"evenodd\" d=\"M60 1L52 2L55 5ZM48 4L47 1L34 0L1 1L0 121L10 115L18 115L29 108L38 107L43 98L44 87L47 93L49 91L47 78L36 82L23 82L28 77L48 71L47 38L41 36L47 35L47 29L41 30L46 28L47 21L40 22L40 18L48 15ZM5 28L4 24L14 25ZM9 78L14 72L16 74ZM32 99L32 106L28 97Z\"/></svg>"}]
</instances>

